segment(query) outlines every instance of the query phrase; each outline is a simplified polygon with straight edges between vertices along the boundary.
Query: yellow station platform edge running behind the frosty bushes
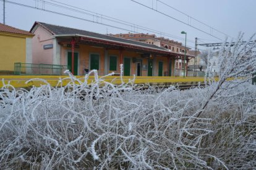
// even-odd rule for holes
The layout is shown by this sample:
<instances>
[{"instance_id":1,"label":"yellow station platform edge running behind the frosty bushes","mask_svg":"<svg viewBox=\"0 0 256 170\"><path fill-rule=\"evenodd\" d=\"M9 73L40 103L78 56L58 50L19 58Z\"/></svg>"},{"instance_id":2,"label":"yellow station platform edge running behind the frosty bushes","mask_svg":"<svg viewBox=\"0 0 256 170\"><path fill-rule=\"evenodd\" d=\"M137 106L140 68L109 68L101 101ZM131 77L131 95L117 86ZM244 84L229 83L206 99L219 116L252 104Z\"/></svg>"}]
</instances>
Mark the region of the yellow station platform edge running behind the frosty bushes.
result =
<instances>
[{"instance_id":1,"label":"yellow station platform edge running behind the frosty bushes","mask_svg":"<svg viewBox=\"0 0 256 170\"><path fill-rule=\"evenodd\" d=\"M80 81L84 81L85 76L76 76ZM99 78L104 79L104 81L113 84L121 84L120 76L99 76ZM123 76L123 82L128 83L130 79L133 79L133 76ZM26 83L28 80L33 79L32 81ZM41 79L47 81L51 86L66 86L70 83L69 76L22 76L22 75L11 75L11 76L0 76L0 87L4 86L4 84L11 84L15 88L21 87L39 87L42 84L46 84L41 81ZM61 83L59 80L62 79ZM88 84L95 81L95 76L89 76ZM173 77L173 76L137 76L134 81L135 84L147 86L158 86L158 87L166 87L166 86L179 86L179 87L189 87L189 86L198 86L198 84L204 83L204 78L202 77Z\"/></svg>"}]
</instances>

